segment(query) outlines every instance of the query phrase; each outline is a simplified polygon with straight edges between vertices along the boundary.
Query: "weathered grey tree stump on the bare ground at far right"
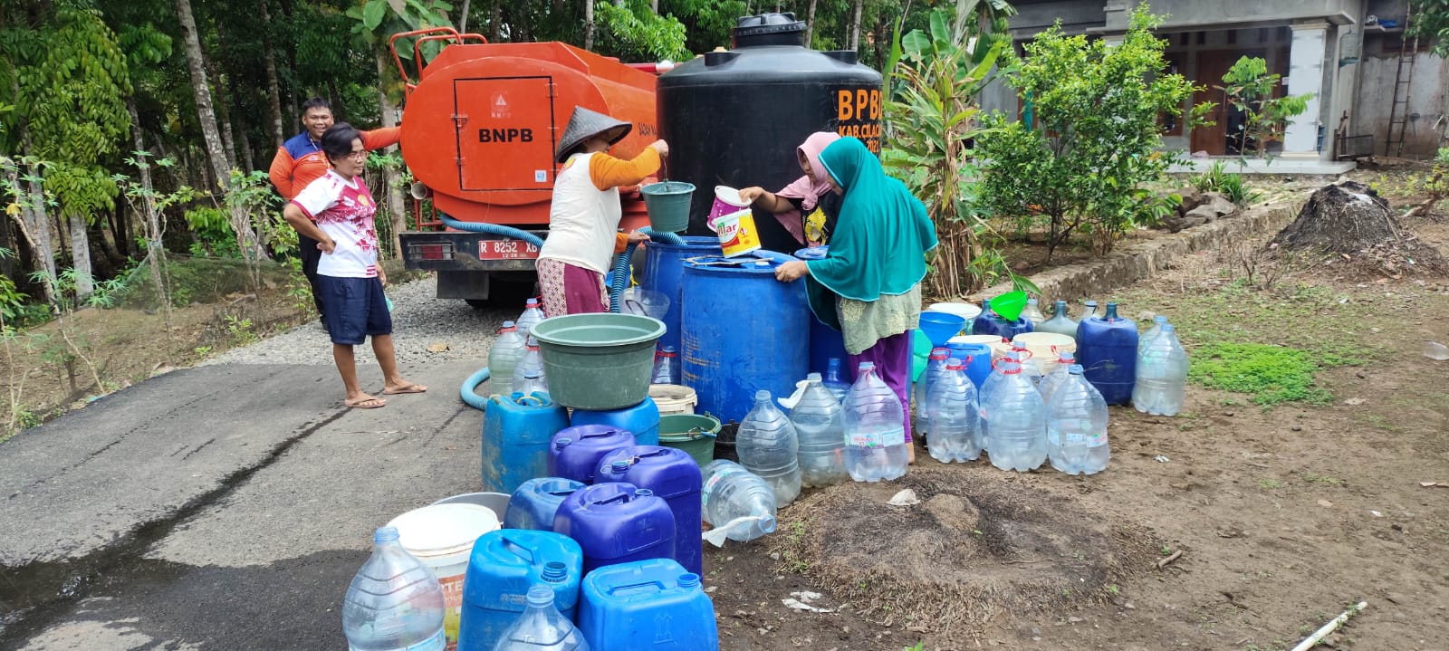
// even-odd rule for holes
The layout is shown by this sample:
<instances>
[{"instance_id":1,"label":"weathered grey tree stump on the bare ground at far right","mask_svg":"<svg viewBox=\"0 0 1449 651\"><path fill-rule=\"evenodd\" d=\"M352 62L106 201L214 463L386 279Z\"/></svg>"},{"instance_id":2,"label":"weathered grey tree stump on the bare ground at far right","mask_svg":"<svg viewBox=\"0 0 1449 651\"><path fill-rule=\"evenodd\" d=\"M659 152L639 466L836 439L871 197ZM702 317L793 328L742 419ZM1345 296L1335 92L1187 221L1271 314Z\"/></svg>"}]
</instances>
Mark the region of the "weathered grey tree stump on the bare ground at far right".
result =
<instances>
[{"instance_id":1,"label":"weathered grey tree stump on the bare ground at far right","mask_svg":"<svg viewBox=\"0 0 1449 651\"><path fill-rule=\"evenodd\" d=\"M1449 261L1408 232L1384 197L1355 181L1324 186L1308 197L1298 217L1272 245L1285 251L1333 254L1342 262L1375 274L1445 275Z\"/></svg>"}]
</instances>

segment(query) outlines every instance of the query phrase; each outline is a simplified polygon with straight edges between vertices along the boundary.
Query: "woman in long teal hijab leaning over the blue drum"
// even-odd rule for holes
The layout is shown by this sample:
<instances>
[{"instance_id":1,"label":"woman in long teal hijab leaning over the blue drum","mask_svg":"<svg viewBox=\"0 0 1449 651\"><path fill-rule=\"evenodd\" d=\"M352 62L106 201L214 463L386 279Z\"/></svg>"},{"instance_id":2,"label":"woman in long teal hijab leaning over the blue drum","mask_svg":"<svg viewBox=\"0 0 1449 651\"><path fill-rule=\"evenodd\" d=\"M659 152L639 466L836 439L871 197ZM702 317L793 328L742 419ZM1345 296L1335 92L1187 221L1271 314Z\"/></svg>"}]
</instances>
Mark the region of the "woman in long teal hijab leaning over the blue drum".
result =
<instances>
[{"instance_id":1,"label":"woman in long teal hijab leaning over the blue drum","mask_svg":"<svg viewBox=\"0 0 1449 651\"><path fill-rule=\"evenodd\" d=\"M849 371L875 364L900 397L910 442L910 331L920 320L920 280L926 252L936 248L936 226L926 206L901 181L885 175L881 161L856 138L842 138L820 152L840 217L824 260L793 261L775 270L784 283L806 277L810 310L845 333ZM914 461L914 447L910 458Z\"/></svg>"}]
</instances>

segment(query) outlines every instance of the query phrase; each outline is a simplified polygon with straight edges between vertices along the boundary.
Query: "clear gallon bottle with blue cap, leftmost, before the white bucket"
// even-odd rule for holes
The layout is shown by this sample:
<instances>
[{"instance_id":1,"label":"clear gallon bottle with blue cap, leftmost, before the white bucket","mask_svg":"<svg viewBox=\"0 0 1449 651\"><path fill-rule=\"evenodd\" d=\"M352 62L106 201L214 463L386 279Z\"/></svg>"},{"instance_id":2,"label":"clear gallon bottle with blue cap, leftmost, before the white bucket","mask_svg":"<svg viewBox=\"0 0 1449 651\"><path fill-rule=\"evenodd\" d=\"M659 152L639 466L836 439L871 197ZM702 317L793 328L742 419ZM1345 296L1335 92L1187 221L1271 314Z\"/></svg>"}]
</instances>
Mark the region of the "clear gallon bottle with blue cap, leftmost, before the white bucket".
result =
<instances>
[{"instance_id":1,"label":"clear gallon bottle with blue cap, leftmost, before the white bucket","mask_svg":"<svg viewBox=\"0 0 1449 651\"><path fill-rule=\"evenodd\" d=\"M342 599L349 651L442 651L443 589L397 541L396 526L372 534L372 555Z\"/></svg>"}]
</instances>

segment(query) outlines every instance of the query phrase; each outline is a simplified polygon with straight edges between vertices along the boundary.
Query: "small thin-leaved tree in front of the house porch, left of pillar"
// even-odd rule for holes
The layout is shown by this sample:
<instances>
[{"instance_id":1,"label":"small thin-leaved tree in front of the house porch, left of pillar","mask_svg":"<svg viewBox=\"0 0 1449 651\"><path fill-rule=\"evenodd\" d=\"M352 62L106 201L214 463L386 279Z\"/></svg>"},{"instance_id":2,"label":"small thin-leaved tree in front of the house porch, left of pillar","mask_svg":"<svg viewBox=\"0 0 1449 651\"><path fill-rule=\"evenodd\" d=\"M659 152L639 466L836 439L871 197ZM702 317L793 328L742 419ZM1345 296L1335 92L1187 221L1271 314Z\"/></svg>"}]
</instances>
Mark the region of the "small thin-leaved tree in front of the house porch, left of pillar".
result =
<instances>
[{"instance_id":1,"label":"small thin-leaved tree in front of the house porch, left of pillar","mask_svg":"<svg viewBox=\"0 0 1449 651\"><path fill-rule=\"evenodd\" d=\"M1268 145L1282 142L1282 133L1293 116L1308 110L1313 93L1274 97L1274 90L1282 86L1281 75L1268 74L1268 62L1258 57L1242 57L1223 75L1226 101L1243 112L1246 120L1237 133L1237 151L1246 154L1252 148L1259 157L1268 155Z\"/></svg>"}]
</instances>

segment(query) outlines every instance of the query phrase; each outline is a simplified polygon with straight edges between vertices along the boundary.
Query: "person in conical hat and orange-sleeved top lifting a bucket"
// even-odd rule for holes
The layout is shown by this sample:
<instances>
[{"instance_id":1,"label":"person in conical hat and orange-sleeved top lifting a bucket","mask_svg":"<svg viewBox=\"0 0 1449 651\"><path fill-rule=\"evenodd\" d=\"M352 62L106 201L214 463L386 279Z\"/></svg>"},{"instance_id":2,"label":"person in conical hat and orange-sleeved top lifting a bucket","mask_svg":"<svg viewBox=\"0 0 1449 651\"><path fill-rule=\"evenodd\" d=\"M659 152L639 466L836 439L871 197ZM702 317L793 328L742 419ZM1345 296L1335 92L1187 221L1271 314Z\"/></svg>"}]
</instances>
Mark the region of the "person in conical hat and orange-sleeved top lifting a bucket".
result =
<instances>
[{"instance_id":1,"label":"person in conical hat and orange-sleeved top lifting a bucket","mask_svg":"<svg viewBox=\"0 0 1449 651\"><path fill-rule=\"evenodd\" d=\"M554 158L564 167L554 180L549 233L536 265L548 316L609 312L604 274L611 257L629 242L649 239L639 231L619 232L619 188L638 186L659 171L669 145L653 141L632 159L609 155L609 148L632 128L580 106L558 139Z\"/></svg>"}]
</instances>

